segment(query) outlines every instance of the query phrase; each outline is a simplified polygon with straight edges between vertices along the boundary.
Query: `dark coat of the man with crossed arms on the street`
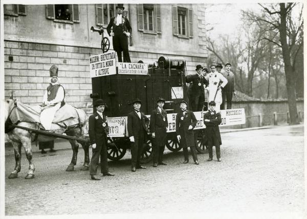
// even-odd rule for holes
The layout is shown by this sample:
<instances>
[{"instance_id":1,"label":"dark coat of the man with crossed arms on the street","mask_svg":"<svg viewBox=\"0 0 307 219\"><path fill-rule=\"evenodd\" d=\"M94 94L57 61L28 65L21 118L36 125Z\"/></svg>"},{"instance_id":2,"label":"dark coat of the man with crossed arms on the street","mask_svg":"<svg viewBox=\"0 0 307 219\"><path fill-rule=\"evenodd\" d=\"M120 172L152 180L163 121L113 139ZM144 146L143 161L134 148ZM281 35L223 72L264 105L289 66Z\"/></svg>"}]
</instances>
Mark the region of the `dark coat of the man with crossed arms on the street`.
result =
<instances>
[{"instance_id":1,"label":"dark coat of the man with crossed arms on the street","mask_svg":"<svg viewBox=\"0 0 307 219\"><path fill-rule=\"evenodd\" d=\"M210 122L205 122L206 119L210 120ZM213 111L213 114L211 114L211 111L208 111L204 114L206 135L213 136L213 142L220 143L220 145L222 145L222 140L221 140L220 128L218 128L218 125L220 125L221 122L222 122L221 114L219 112L216 113L215 110Z\"/></svg>"}]
</instances>

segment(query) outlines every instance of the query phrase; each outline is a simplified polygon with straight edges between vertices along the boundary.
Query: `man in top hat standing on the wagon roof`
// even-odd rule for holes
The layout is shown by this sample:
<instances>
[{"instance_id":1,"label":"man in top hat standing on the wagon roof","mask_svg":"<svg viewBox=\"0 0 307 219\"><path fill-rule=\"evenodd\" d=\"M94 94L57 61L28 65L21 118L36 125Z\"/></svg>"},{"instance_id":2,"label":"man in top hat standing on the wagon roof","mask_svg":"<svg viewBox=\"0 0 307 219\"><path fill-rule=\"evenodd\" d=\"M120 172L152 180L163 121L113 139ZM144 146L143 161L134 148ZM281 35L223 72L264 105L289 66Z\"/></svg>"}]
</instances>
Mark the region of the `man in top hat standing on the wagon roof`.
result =
<instances>
[{"instance_id":1,"label":"man in top hat standing on the wagon roof","mask_svg":"<svg viewBox=\"0 0 307 219\"><path fill-rule=\"evenodd\" d=\"M117 53L118 62L122 62L121 51L123 51L124 62L130 63L128 37L130 37L132 29L128 19L122 15L125 9L123 4L118 4L116 9L117 16L111 18L110 23L106 27L106 31L109 36L113 36L113 49ZM111 27L113 27L113 32L111 32Z\"/></svg>"}]
</instances>

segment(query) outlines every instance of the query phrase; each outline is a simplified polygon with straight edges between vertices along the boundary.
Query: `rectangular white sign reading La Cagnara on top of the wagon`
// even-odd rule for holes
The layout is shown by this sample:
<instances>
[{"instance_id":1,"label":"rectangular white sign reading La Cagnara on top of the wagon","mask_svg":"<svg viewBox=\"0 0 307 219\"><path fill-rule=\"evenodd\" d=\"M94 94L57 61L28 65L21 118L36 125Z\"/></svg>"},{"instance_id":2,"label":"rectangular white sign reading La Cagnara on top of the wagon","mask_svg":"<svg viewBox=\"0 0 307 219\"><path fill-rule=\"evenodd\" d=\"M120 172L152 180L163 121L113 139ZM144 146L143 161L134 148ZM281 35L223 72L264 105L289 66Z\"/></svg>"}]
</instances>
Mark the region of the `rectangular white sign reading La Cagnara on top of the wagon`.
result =
<instances>
[{"instance_id":1,"label":"rectangular white sign reading La Cagnara on top of the wagon","mask_svg":"<svg viewBox=\"0 0 307 219\"><path fill-rule=\"evenodd\" d=\"M118 74L148 74L148 64L145 63L118 63Z\"/></svg>"}]
</instances>

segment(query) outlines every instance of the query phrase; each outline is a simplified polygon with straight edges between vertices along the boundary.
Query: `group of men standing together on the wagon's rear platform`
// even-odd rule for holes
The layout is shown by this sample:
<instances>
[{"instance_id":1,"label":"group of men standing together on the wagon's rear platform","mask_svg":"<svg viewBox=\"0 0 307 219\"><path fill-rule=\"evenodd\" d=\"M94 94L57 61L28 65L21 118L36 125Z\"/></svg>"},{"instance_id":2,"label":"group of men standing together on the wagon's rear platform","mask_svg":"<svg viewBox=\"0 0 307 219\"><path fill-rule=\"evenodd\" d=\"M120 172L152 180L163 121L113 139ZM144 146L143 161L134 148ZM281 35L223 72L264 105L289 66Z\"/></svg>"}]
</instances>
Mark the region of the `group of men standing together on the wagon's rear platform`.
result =
<instances>
[{"instance_id":1,"label":"group of men standing together on the wagon's rear platform","mask_svg":"<svg viewBox=\"0 0 307 219\"><path fill-rule=\"evenodd\" d=\"M208 103L214 101L216 111L225 109L227 100L227 109L231 109L232 95L234 90L234 74L230 71L231 64L225 65L226 70L221 72L222 64L210 65L208 68L203 68L201 65L196 66L196 73L187 75L186 82L189 85L189 97L193 111L202 111L205 104L205 88L208 90Z\"/></svg>"}]
</instances>

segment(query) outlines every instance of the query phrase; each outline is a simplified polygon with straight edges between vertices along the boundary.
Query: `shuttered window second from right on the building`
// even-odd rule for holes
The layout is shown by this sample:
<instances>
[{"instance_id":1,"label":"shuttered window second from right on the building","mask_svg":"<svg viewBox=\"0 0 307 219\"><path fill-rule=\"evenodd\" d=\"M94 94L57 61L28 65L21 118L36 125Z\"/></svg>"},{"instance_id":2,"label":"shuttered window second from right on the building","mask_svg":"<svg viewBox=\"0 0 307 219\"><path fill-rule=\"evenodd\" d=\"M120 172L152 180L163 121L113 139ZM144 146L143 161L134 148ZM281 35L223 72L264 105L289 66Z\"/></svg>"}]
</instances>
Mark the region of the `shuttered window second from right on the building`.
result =
<instances>
[{"instance_id":1,"label":"shuttered window second from right on the building","mask_svg":"<svg viewBox=\"0 0 307 219\"><path fill-rule=\"evenodd\" d=\"M144 33L161 33L160 5L138 4L138 30Z\"/></svg>"}]
</instances>

